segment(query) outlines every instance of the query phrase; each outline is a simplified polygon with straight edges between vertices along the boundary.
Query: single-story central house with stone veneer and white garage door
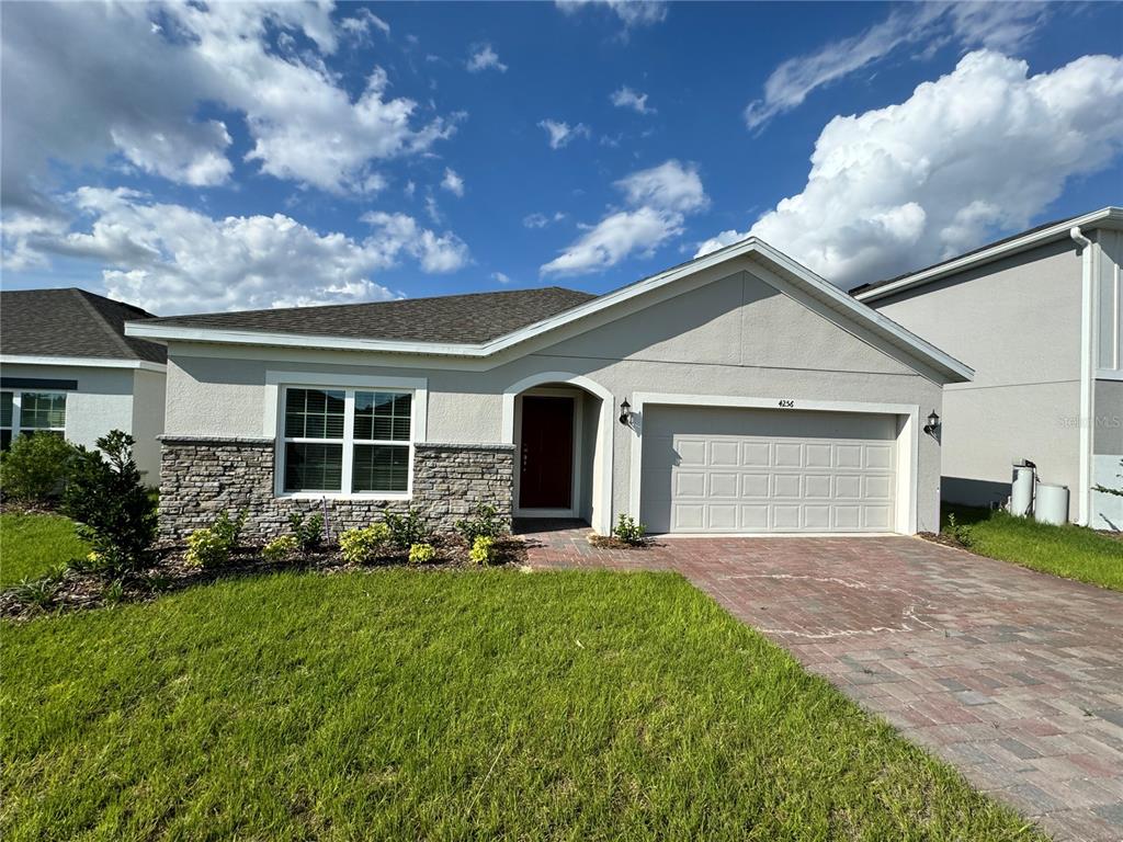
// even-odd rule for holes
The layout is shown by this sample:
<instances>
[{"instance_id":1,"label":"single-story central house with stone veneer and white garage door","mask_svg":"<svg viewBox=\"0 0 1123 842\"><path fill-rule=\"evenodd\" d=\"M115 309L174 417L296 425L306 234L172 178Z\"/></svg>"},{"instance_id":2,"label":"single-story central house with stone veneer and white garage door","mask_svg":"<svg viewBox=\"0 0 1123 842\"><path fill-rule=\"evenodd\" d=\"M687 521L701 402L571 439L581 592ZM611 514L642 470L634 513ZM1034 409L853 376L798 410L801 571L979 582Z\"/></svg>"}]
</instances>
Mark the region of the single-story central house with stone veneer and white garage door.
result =
<instances>
[{"instance_id":1,"label":"single-story central house with stone veneer and white garage door","mask_svg":"<svg viewBox=\"0 0 1123 842\"><path fill-rule=\"evenodd\" d=\"M166 342L162 530L619 514L654 532L935 530L962 363L748 239L601 296L540 289L134 321Z\"/></svg>"}]
</instances>

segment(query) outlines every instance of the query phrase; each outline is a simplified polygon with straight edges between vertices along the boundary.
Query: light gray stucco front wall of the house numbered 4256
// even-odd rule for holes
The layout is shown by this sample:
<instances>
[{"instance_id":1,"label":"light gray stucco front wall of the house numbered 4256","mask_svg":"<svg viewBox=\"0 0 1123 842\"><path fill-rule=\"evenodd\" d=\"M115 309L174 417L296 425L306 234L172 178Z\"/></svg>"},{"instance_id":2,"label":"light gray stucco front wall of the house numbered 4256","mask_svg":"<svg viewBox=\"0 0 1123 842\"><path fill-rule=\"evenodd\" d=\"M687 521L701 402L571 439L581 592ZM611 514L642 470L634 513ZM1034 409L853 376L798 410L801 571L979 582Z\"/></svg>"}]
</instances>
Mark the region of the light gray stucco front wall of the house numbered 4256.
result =
<instances>
[{"instance_id":1,"label":"light gray stucco front wall of the house numbered 4256","mask_svg":"<svg viewBox=\"0 0 1123 842\"><path fill-rule=\"evenodd\" d=\"M499 360L440 365L360 353L173 342L167 434L262 437L270 370L426 377L428 439L442 442L502 441L504 390L542 372L588 377L612 394L614 406L636 392L663 392L915 404L921 417L941 411L937 384L858 338L849 326L842 329L751 274L728 267L711 283L601 322ZM629 507L634 433L612 427L614 516ZM919 528L929 530L938 524L939 448L923 436L920 448Z\"/></svg>"}]
</instances>

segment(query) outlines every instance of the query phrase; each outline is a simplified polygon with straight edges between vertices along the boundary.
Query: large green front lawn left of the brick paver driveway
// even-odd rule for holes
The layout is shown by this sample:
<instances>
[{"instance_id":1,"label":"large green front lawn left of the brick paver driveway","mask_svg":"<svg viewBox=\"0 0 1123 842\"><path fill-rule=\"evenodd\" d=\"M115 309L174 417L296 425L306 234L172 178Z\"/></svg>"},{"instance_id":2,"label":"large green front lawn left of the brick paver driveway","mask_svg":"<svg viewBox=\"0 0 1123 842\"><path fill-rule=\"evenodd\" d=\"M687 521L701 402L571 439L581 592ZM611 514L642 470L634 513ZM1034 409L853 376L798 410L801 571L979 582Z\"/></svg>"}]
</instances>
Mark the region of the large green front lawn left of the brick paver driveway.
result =
<instances>
[{"instance_id":1,"label":"large green front lawn left of the brick paver driveway","mask_svg":"<svg viewBox=\"0 0 1123 842\"><path fill-rule=\"evenodd\" d=\"M673 574L280 574L0 633L9 842L1038 839Z\"/></svg>"}]
</instances>

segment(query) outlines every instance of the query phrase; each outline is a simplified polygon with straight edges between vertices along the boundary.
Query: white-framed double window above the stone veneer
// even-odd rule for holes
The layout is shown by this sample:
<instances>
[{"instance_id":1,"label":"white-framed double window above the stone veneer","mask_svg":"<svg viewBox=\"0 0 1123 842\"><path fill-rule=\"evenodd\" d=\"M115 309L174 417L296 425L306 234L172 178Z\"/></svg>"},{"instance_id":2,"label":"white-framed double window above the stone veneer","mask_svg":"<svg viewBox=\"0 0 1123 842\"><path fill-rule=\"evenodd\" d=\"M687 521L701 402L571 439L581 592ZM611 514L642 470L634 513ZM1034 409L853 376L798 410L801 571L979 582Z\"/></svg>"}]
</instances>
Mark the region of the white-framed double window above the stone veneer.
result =
<instances>
[{"instance_id":1,"label":"white-framed double window above the stone veneer","mask_svg":"<svg viewBox=\"0 0 1123 842\"><path fill-rule=\"evenodd\" d=\"M284 386L277 491L408 497L414 409L409 390Z\"/></svg>"}]
</instances>

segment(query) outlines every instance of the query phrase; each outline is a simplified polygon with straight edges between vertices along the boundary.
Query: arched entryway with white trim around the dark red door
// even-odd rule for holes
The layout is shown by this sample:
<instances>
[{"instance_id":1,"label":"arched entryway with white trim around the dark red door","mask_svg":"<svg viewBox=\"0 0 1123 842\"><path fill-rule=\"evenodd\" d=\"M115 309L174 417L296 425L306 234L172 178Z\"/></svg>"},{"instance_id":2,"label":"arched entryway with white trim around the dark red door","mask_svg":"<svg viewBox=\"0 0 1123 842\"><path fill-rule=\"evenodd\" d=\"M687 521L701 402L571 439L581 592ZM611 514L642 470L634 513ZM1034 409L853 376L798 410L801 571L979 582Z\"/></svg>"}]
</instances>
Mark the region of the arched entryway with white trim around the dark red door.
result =
<instances>
[{"instance_id":1,"label":"arched entryway with white trim around the dark red door","mask_svg":"<svg viewBox=\"0 0 1123 842\"><path fill-rule=\"evenodd\" d=\"M503 391L503 441L515 446L515 516L578 518L612 529L612 393L569 372Z\"/></svg>"}]
</instances>

